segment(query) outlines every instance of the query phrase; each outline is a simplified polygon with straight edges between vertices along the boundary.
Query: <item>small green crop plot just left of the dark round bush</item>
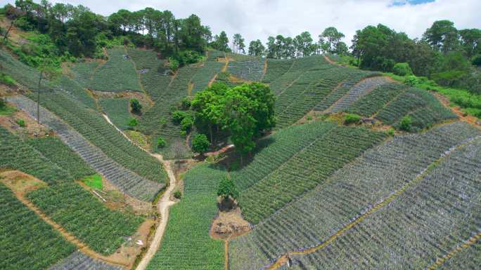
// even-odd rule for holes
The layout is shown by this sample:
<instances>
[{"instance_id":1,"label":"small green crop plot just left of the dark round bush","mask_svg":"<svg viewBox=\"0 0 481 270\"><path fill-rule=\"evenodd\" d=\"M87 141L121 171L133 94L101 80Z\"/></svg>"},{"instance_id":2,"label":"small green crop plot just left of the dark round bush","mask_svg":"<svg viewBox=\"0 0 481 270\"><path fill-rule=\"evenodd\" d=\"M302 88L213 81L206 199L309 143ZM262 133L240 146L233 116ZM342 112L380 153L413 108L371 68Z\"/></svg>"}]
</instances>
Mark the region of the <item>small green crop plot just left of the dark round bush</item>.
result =
<instances>
[{"instance_id":1,"label":"small green crop plot just left of the dark round bush","mask_svg":"<svg viewBox=\"0 0 481 270\"><path fill-rule=\"evenodd\" d=\"M126 130L129 128L129 121L133 118L129 112L128 98L101 98L98 100L102 107L102 111L108 115L112 123L120 128Z\"/></svg>"}]
</instances>

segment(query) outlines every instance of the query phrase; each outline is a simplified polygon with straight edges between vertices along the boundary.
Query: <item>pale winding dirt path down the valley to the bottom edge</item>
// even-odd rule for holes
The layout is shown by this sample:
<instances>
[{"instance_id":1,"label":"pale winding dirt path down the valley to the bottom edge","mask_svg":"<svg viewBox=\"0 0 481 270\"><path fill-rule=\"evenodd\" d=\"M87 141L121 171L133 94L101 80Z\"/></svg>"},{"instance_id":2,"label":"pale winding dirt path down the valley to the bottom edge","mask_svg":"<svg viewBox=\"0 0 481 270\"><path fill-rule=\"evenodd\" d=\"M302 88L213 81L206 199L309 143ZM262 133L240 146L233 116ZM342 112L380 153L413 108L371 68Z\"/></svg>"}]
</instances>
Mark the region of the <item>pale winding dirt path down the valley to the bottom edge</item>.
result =
<instances>
[{"instance_id":1,"label":"pale winding dirt path down the valley to the bottom edge","mask_svg":"<svg viewBox=\"0 0 481 270\"><path fill-rule=\"evenodd\" d=\"M108 118L107 115L103 114L103 118L105 118L105 121L110 123L110 125L112 125L115 129L117 129L118 132L120 132L122 135L124 135L124 137L126 137L127 140L129 140L129 142L132 142L132 140L130 140L130 138L127 137L127 135L125 135L125 133L123 133L122 130L117 128L112 123L112 121L110 121L110 119ZM132 143L134 145L137 145L134 142L132 142ZM139 147L140 149L143 149L139 145L137 145L137 147ZM174 205L174 203L175 203L175 201L170 201L170 195L172 194L172 191L174 191L174 189L176 187L176 178L175 178L175 175L174 175L174 171L172 170L172 167L170 166L169 161L165 161L164 158L162 157L162 155L160 155L160 154L152 154L149 151L147 151L146 149L143 149L143 151L146 151L148 154L150 154L150 156L153 156L153 157L157 158L158 161L160 161L160 163L162 163L162 166L164 167L164 170L167 172L167 176L169 177L169 186L168 186L167 190L165 191L165 193L162 195L162 198L160 198L160 200L158 202L158 205L157 205L157 212L159 213L161 220L158 224L157 229L155 229L155 235L154 235L154 237L153 237L153 239L150 243L150 247L148 247L146 255L143 256L143 258L141 259L141 262L139 262L139 264L137 265L136 270L146 269L148 263L150 262L150 259L153 258L153 256L155 255L155 252L157 252L157 250L160 247L160 241L162 241L162 236L164 236L165 228L167 227L167 221L169 220L169 207L171 205Z\"/></svg>"}]
</instances>

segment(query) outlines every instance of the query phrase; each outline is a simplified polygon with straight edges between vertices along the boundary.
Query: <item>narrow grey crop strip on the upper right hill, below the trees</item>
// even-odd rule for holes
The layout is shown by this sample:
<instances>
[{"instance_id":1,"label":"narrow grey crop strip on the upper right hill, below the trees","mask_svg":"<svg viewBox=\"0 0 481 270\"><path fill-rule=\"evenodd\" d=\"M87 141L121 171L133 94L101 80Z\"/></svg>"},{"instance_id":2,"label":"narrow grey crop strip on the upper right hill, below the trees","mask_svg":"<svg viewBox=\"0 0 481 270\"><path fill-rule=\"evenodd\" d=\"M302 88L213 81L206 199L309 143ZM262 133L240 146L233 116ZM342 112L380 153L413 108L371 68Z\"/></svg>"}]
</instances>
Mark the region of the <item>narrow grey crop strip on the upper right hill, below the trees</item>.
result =
<instances>
[{"instance_id":1,"label":"narrow grey crop strip on the upper right hill, below the trees","mask_svg":"<svg viewBox=\"0 0 481 270\"><path fill-rule=\"evenodd\" d=\"M378 88L379 86L384 85L385 83L388 83L387 79L382 76L378 77L371 77L368 79L365 79L358 83L356 86L351 88L349 92L346 93L343 97L338 100L338 102L335 102L333 107L328 109L328 112L342 112L345 109L347 109L352 103L356 102L356 100L359 100L363 95L366 95L371 92L371 90Z\"/></svg>"}]
</instances>

